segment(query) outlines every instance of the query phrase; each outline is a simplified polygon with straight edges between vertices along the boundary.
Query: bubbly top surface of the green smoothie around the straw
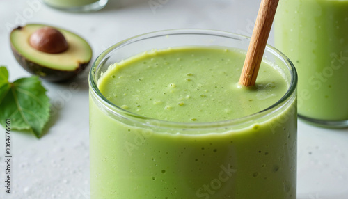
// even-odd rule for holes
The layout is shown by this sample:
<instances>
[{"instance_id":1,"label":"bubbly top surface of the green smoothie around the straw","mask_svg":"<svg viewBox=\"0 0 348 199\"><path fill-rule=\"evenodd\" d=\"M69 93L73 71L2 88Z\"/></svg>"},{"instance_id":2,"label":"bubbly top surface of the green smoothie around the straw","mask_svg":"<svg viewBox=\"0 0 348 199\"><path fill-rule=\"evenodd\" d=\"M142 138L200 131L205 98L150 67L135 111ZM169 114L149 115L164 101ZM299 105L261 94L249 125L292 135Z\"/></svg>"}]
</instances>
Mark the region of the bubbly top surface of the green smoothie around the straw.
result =
<instances>
[{"instance_id":1,"label":"bubbly top surface of the green smoothie around the straw","mask_svg":"<svg viewBox=\"0 0 348 199\"><path fill-rule=\"evenodd\" d=\"M262 62L256 85L239 86L245 52L218 47L147 51L115 63L97 82L113 104L148 118L216 122L267 109L285 95L279 70Z\"/></svg>"}]
</instances>

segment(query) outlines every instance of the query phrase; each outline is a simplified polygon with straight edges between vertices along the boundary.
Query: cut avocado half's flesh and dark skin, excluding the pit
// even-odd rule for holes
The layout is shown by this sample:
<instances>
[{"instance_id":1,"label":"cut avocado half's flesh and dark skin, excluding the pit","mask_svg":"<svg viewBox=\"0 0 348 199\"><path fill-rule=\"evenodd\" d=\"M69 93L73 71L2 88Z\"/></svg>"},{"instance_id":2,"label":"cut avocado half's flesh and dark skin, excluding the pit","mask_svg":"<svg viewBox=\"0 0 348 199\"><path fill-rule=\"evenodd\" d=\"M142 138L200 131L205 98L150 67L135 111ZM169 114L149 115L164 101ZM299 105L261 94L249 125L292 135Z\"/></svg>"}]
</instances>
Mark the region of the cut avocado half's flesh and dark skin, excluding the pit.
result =
<instances>
[{"instance_id":1,"label":"cut avocado half's flesh and dark skin, excluding the pit","mask_svg":"<svg viewBox=\"0 0 348 199\"><path fill-rule=\"evenodd\" d=\"M83 71L92 58L88 42L70 31L52 27L60 31L68 42L68 49L57 54L39 51L29 44L35 31L47 25L26 24L18 26L10 33L13 54L22 67L31 74L49 81L67 81Z\"/></svg>"}]
</instances>

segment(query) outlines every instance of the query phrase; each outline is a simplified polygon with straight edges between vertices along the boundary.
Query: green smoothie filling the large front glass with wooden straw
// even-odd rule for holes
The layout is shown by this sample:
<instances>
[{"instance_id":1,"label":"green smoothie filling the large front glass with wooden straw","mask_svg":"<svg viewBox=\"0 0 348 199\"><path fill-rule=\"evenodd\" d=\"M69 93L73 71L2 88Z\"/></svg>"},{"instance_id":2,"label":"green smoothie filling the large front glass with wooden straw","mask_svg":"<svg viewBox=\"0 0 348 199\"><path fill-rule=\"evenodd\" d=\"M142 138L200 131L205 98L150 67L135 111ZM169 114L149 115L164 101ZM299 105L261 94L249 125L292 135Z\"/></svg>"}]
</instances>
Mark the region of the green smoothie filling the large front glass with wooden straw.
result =
<instances>
[{"instance_id":1,"label":"green smoothie filling the large front glass with wooden straw","mask_svg":"<svg viewBox=\"0 0 348 199\"><path fill-rule=\"evenodd\" d=\"M262 62L256 86L241 87L244 59L237 49L182 47L111 65L97 86L125 117L90 94L91 198L296 198L296 100L250 116L290 80Z\"/></svg>"}]
</instances>

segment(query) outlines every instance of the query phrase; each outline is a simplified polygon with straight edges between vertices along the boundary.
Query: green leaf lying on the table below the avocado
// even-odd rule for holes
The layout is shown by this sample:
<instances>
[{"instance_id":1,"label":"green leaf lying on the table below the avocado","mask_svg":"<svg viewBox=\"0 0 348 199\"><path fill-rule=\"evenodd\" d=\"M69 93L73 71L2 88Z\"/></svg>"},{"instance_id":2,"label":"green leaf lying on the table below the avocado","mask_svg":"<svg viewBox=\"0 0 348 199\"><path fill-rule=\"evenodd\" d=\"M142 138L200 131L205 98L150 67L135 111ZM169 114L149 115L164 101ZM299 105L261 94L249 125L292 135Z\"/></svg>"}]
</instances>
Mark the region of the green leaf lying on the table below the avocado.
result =
<instances>
[{"instance_id":1,"label":"green leaf lying on the table below the avocado","mask_svg":"<svg viewBox=\"0 0 348 199\"><path fill-rule=\"evenodd\" d=\"M38 77L32 76L8 82L8 70L0 67L0 123L11 120L11 128L28 130L37 138L49 120L49 97Z\"/></svg>"}]
</instances>

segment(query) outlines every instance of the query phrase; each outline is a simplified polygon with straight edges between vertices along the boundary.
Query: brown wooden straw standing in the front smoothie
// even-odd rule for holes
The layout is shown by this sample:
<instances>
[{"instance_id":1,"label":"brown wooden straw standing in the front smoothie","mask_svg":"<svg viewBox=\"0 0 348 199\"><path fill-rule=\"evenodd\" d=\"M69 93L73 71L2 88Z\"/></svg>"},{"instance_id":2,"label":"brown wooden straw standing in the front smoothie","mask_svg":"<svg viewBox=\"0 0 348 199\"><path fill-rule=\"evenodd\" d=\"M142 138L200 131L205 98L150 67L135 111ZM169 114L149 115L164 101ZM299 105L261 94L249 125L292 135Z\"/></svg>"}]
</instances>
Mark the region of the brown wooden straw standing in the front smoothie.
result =
<instances>
[{"instance_id":1,"label":"brown wooden straw standing in the front smoothie","mask_svg":"<svg viewBox=\"0 0 348 199\"><path fill-rule=\"evenodd\" d=\"M279 0L262 0L239 83L254 86Z\"/></svg>"}]
</instances>

